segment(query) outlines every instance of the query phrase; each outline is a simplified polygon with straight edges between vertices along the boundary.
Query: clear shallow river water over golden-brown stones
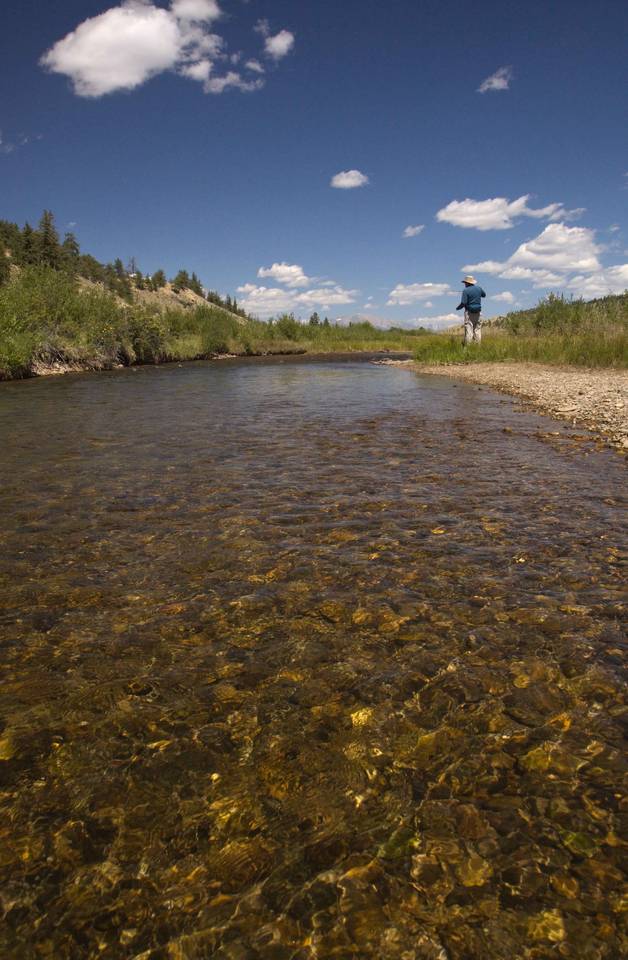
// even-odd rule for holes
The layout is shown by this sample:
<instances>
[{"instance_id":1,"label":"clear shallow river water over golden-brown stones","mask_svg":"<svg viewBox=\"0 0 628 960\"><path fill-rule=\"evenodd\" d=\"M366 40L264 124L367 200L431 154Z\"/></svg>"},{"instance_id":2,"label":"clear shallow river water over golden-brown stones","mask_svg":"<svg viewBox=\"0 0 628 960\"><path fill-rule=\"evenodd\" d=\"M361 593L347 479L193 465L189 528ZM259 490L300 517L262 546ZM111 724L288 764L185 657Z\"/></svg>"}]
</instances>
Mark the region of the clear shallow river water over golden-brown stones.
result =
<instances>
[{"instance_id":1,"label":"clear shallow river water over golden-brown stones","mask_svg":"<svg viewBox=\"0 0 628 960\"><path fill-rule=\"evenodd\" d=\"M3 957L626 955L619 455L329 360L2 384L0 450Z\"/></svg>"}]
</instances>

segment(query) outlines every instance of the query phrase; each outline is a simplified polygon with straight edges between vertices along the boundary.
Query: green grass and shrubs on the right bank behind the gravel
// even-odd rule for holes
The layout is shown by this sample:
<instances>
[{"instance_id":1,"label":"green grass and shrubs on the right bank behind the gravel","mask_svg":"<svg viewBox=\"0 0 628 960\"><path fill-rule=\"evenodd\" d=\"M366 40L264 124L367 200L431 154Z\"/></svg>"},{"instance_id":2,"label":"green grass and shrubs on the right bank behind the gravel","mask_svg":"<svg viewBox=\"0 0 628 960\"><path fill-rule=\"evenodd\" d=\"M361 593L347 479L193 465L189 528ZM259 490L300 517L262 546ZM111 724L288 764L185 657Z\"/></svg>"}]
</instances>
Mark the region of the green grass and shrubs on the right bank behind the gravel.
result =
<instances>
[{"instance_id":1,"label":"green grass and shrubs on the right bank behind the gravel","mask_svg":"<svg viewBox=\"0 0 628 960\"><path fill-rule=\"evenodd\" d=\"M485 326L482 343L465 348L462 335L422 337L421 363L526 361L583 367L628 366L628 294L584 302L550 295L532 310Z\"/></svg>"}]
</instances>

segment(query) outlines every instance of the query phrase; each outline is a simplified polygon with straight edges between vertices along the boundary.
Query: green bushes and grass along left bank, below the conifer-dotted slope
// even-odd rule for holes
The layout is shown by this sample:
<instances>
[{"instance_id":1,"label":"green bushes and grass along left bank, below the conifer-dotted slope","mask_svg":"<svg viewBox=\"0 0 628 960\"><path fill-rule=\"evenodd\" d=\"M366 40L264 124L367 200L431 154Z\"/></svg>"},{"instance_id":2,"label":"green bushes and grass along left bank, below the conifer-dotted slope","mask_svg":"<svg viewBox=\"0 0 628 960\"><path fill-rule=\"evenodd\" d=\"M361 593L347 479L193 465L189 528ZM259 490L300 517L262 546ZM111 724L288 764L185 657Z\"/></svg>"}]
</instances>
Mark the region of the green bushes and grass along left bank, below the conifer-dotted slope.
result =
<instances>
[{"instance_id":1,"label":"green bushes and grass along left bank, below the conifer-dotted slope","mask_svg":"<svg viewBox=\"0 0 628 960\"><path fill-rule=\"evenodd\" d=\"M68 274L24 268L0 287L0 379L27 377L55 365L107 369L221 354L406 350L416 333L370 324L264 323L211 303L157 310L126 304L103 288L81 289Z\"/></svg>"}]
</instances>

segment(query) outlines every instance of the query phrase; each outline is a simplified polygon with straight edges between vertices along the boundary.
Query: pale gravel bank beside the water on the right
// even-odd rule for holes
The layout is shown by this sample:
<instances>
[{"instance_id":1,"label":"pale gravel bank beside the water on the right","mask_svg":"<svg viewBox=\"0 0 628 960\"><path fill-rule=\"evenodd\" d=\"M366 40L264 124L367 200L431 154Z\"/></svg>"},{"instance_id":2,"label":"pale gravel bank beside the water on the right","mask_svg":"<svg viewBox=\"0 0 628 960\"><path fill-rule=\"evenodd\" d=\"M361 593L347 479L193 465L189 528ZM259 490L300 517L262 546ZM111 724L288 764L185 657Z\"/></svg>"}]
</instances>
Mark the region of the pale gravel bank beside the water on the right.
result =
<instances>
[{"instance_id":1,"label":"pale gravel bank beside the water on the right","mask_svg":"<svg viewBox=\"0 0 628 960\"><path fill-rule=\"evenodd\" d=\"M603 434L628 450L628 371L549 367L537 363L474 363L430 366L434 373L482 383L527 400L543 413Z\"/></svg>"}]
</instances>

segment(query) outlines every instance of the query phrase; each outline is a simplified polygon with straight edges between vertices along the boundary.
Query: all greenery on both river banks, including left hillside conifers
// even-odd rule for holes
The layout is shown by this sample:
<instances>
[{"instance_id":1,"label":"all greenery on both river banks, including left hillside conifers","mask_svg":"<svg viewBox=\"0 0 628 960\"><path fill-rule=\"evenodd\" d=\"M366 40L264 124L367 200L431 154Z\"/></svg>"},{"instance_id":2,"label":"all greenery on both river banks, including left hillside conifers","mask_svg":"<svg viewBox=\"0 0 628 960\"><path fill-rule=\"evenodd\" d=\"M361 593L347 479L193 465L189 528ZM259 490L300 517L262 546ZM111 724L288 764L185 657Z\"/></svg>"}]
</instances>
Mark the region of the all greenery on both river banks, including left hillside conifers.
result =
<instances>
[{"instance_id":1,"label":"all greenery on both river banks, including left hillside conifers","mask_svg":"<svg viewBox=\"0 0 628 960\"><path fill-rule=\"evenodd\" d=\"M586 367L628 366L628 293L589 303L550 294L532 310L485 325L481 345L460 333L342 326L313 313L263 322L230 296L206 290L185 269L168 281L143 274L131 258L102 264L72 233L61 242L44 211L37 230L0 220L0 380L54 370L342 351L412 352L421 363L533 361Z\"/></svg>"}]
</instances>

